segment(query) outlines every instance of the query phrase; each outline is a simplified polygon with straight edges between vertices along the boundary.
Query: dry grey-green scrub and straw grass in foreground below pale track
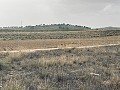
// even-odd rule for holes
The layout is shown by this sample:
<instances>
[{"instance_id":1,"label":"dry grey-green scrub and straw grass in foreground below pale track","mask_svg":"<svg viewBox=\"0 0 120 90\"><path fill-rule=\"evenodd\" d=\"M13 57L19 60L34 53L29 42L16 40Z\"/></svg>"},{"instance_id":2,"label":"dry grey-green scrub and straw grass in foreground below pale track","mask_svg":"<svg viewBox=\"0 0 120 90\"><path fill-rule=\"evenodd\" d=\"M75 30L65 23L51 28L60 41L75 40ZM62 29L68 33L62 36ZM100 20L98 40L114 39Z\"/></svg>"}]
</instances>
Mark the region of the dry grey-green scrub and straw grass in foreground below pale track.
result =
<instances>
[{"instance_id":1,"label":"dry grey-green scrub and straw grass in foreground below pale track","mask_svg":"<svg viewBox=\"0 0 120 90\"><path fill-rule=\"evenodd\" d=\"M119 90L120 45L0 54L1 90Z\"/></svg>"}]
</instances>

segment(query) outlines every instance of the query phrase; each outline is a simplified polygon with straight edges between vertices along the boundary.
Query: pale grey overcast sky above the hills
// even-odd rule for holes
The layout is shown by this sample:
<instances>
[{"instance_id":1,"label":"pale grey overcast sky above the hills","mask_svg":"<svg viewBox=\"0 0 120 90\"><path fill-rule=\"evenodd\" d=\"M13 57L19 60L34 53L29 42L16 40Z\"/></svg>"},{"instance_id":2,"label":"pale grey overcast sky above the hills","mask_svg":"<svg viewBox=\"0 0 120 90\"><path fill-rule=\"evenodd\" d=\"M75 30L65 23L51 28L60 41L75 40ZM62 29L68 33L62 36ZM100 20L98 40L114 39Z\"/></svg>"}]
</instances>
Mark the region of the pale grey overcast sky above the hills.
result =
<instances>
[{"instance_id":1,"label":"pale grey overcast sky above the hills","mask_svg":"<svg viewBox=\"0 0 120 90\"><path fill-rule=\"evenodd\" d=\"M120 0L0 0L0 27L21 22L120 27Z\"/></svg>"}]
</instances>

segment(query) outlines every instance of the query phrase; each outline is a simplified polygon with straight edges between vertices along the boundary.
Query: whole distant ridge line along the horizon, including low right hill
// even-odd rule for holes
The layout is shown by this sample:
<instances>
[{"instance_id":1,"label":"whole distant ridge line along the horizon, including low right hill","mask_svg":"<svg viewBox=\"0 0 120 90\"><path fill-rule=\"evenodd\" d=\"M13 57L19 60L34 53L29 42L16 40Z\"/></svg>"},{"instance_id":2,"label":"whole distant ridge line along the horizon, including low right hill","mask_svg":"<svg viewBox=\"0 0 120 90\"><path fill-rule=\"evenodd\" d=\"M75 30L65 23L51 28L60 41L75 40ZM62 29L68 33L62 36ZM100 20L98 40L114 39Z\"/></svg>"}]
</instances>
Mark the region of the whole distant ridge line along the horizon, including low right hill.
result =
<instances>
[{"instance_id":1,"label":"whole distant ridge line along the horizon, including low right hill","mask_svg":"<svg viewBox=\"0 0 120 90\"><path fill-rule=\"evenodd\" d=\"M24 30L24 31L80 31L80 30L120 30L120 27L103 27L103 28L93 28L87 26L80 25L72 25L72 24L39 24L39 25L28 25L28 26L8 26L8 27L0 27L0 30Z\"/></svg>"}]
</instances>

